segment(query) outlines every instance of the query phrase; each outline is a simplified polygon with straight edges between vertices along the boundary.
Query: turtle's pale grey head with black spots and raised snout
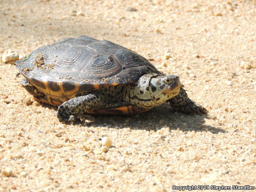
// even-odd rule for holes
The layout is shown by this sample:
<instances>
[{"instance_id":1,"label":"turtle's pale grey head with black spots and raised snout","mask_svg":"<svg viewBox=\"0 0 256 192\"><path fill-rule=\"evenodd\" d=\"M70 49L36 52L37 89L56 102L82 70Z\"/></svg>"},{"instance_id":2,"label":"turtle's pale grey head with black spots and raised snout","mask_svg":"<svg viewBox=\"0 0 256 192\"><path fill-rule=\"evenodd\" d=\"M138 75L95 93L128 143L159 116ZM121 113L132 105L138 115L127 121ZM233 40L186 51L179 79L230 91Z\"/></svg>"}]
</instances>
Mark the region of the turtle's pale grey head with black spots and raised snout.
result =
<instances>
[{"instance_id":1,"label":"turtle's pale grey head with black spots and raised snout","mask_svg":"<svg viewBox=\"0 0 256 192\"><path fill-rule=\"evenodd\" d=\"M151 99L157 104L162 104L178 95L180 87L180 77L175 75L158 76L149 82Z\"/></svg>"}]
</instances>

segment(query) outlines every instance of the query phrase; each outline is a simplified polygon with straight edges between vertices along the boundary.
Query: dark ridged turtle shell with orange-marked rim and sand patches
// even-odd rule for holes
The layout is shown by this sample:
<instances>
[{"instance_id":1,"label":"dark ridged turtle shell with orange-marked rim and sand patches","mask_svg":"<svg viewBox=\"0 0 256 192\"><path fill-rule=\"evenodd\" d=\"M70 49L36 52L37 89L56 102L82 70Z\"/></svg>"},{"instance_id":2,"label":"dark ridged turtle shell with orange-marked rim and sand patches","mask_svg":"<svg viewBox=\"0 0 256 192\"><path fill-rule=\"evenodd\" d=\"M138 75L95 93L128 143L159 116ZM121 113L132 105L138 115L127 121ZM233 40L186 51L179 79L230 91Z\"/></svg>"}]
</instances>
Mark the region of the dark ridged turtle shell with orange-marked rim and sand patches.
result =
<instances>
[{"instance_id":1,"label":"dark ridged turtle shell with orange-marked rim and sand patches","mask_svg":"<svg viewBox=\"0 0 256 192\"><path fill-rule=\"evenodd\" d=\"M162 74L138 53L87 36L45 45L15 64L37 89L62 102L78 93L132 83L144 74Z\"/></svg>"}]
</instances>

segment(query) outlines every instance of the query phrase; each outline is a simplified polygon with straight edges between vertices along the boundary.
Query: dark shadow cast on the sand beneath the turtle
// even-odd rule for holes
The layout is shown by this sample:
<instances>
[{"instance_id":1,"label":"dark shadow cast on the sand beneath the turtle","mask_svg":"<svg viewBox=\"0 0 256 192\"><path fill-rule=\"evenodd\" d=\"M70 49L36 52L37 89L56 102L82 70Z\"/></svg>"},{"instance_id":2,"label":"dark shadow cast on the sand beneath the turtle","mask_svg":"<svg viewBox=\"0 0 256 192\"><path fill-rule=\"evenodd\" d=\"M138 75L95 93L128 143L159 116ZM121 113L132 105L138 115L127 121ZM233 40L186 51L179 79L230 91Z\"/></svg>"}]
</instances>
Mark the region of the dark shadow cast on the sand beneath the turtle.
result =
<instances>
[{"instance_id":1,"label":"dark shadow cast on the sand beneath the turtle","mask_svg":"<svg viewBox=\"0 0 256 192\"><path fill-rule=\"evenodd\" d=\"M210 131L213 134L226 132L219 127L205 125L205 119L210 119L210 116L177 113L166 103L148 112L132 116L85 115L81 122L75 122L75 124L80 126L100 126L115 129L130 128L146 131L157 131L163 127L169 127L170 131L178 129L182 132Z\"/></svg>"}]
</instances>

